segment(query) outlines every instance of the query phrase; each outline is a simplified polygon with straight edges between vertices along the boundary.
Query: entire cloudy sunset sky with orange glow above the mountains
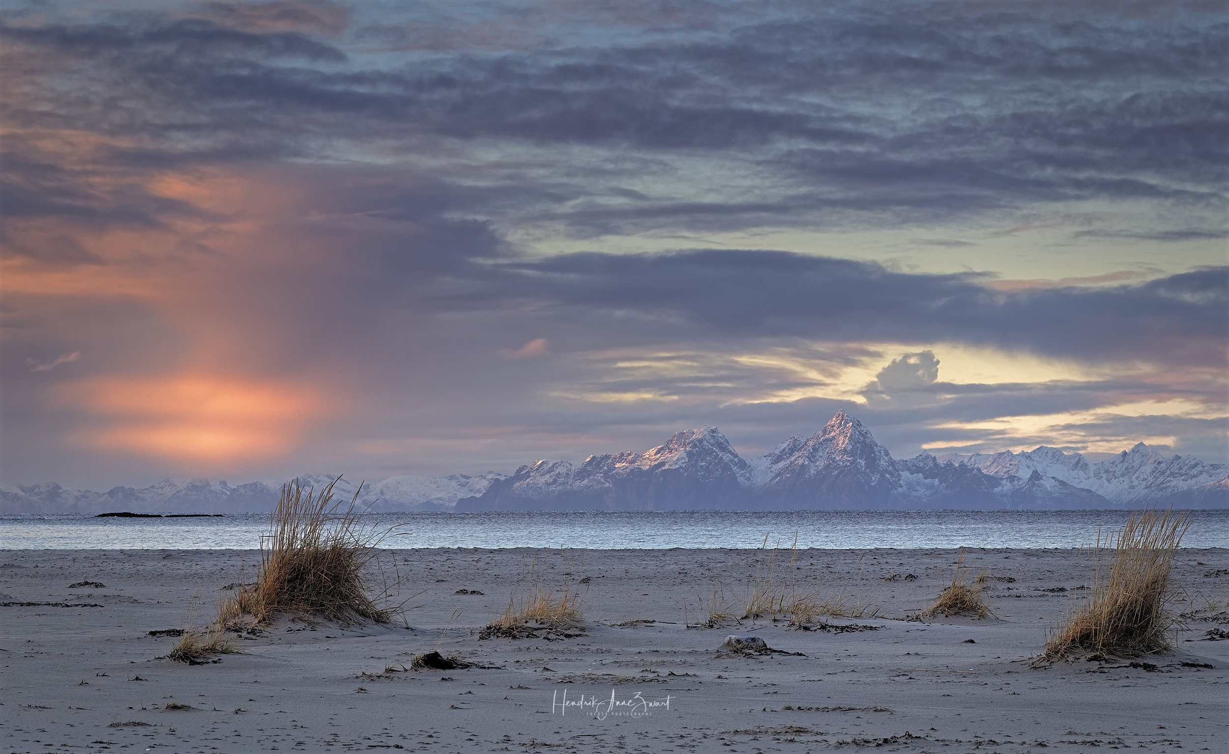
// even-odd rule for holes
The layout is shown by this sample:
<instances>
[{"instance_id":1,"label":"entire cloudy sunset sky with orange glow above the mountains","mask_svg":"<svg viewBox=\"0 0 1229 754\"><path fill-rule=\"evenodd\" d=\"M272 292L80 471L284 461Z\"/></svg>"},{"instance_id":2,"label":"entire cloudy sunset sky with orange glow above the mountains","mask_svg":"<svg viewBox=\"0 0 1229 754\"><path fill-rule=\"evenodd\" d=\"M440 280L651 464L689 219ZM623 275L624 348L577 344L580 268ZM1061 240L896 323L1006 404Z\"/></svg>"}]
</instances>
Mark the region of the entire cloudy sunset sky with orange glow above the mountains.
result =
<instances>
[{"instance_id":1,"label":"entire cloudy sunset sky with orange glow above the mountains","mask_svg":"<svg viewBox=\"0 0 1229 754\"><path fill-rule=\"evenodd\" d=\"M1222 2L0 2L0 481L837 411L1229 461Z\"/></svg>"}]
</instances>

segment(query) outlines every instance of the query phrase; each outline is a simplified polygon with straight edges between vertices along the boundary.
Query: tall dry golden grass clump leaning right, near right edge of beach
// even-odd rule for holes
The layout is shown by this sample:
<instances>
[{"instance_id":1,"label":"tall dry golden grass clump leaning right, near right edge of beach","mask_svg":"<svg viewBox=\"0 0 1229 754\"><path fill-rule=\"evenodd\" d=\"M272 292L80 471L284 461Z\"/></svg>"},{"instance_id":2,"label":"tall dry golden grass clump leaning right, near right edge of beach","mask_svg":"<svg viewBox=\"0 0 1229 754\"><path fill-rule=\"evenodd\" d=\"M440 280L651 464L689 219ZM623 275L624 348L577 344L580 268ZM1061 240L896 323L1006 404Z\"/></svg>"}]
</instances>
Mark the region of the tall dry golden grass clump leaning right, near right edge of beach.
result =
<instances>
[{"instance_id":1,"label":"tall dry golden grass clump leaning right, near right edge of beach","mask_svg":"<svg viewBox=\"0 0 1229 754\"><path fill-rule=\"evenodd\" d=\"M1097 538L1097 559L1113 545L1109 571L1097 569L1091 597L1051 631L1040 661L1077 652L1138 657L1169 648L1165 634L1175 623L1166 609L1175 597L1170 573L1190 526L1186 512L1144 511L1133 513L1106 545Z\"/></svg>"}]
</instances>

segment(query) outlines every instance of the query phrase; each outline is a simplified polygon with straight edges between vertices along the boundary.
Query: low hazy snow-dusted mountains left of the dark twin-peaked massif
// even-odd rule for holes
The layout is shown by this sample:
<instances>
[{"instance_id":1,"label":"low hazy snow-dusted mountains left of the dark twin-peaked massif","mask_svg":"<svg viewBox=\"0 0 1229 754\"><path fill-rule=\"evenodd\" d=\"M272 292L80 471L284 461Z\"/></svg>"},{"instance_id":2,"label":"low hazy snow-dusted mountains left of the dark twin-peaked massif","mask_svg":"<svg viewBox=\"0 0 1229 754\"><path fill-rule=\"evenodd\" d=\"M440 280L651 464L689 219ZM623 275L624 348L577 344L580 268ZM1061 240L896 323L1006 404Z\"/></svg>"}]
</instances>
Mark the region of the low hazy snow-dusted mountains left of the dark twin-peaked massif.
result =
<instances>
[{"instance_id":1,"label":"low hazy snow-dusted mountains left of the dark twin-peaked massif","mask_svg":"<svg viewBox=\"0 0 1229 754\"><path fill-rule=\"evenodd\" d=\"M446 511L461 497L481 495L504 474L488 472L478 476L390 476L363 485L356 501L371 511ZM304 486L323 489L333 474L304 474ZM333 488L334 497L354 499L359 485L342 478ZM106 492L65 489L54 483L6 485L0 488L0 512L4 513L245 513L272 511L280 488L252 481L231 486L213 479L165 479L147 488L112 488Z\"/></svg>"}]
</instances>

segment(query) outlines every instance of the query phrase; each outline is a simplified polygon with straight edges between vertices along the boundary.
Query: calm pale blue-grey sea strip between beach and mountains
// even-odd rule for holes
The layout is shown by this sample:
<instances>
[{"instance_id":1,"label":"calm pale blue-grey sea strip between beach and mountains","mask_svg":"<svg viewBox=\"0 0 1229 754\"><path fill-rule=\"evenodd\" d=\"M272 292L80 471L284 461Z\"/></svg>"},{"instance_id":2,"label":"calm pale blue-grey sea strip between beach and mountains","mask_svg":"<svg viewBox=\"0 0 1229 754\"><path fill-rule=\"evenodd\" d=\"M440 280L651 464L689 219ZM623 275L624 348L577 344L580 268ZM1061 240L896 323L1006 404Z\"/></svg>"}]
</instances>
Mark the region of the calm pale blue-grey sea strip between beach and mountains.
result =
<instances>
[{"instance_id":1,"label":"calm pale blue-grey sea strip between beach and mountains","mask_svg":"<svg viewBox=\"0 0 1229 754\"><path fill-rule=\"evenodd\" d=\"M395 527L383 546L408 548L1078 548L1122 526L1126 511L782 511L370 513ZM1195 511L1182 545L1229 546L1229 511ZM0 548L254 549L269 517L93 518L0 516Z\"/></svg>"}]
</instances>

